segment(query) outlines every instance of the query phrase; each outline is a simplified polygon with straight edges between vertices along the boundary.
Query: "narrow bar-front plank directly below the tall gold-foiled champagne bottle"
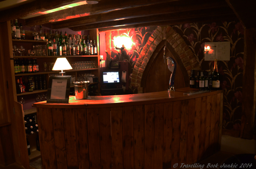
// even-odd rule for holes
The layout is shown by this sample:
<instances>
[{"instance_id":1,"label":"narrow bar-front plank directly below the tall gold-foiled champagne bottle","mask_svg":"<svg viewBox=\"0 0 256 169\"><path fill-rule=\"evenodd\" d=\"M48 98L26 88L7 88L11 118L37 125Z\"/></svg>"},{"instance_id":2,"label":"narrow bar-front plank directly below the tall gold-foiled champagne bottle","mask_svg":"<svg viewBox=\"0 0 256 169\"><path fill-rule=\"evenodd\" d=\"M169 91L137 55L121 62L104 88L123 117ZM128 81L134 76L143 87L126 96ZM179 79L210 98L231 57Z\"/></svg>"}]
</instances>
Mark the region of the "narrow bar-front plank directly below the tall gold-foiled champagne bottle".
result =
<instances>
[{"instance_id":1,"label":"narrow bar-front plank directly below the tall gold-foiled champagne bottle","mask_svg":"<svg viewBox=\"0 0 256 169\"><path fill-rule=\"evenodd\" d=\"M211 130L210 130L210 152L213 151L214 133L215 133L215 116L216 116L216 96L212 95L212 112L211 112Z\"/></svg>"}]
</instances>

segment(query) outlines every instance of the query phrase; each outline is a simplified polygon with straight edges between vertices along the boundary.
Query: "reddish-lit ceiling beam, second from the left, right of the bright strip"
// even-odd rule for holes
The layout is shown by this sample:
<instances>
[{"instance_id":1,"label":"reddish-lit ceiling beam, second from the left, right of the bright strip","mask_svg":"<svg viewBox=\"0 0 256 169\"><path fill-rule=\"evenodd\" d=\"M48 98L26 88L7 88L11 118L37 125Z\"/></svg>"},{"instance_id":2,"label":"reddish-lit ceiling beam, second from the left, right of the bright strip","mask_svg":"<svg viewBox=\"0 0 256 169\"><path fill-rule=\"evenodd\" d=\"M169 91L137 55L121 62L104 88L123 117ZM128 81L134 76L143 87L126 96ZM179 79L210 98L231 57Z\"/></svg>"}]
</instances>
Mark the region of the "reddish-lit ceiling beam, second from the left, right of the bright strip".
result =
<instances>
[{"instance_id":1,"label":"reddish-lit ceiling beam, second from the left, right of the bright strip","mask_svg":"<svg viewBox=\"0 0 256 169\"><path fill-rule=\"evenodd\" d=\"M134 8L144 5L152 5L175 0L101 0L99 3L80 5L73 8L63 9L50 14L26 19L26 26L40 25L45 23L63 21L71 18L84 17L92 14L100 14L120 9Z\"/></svg>"}]
</instances>

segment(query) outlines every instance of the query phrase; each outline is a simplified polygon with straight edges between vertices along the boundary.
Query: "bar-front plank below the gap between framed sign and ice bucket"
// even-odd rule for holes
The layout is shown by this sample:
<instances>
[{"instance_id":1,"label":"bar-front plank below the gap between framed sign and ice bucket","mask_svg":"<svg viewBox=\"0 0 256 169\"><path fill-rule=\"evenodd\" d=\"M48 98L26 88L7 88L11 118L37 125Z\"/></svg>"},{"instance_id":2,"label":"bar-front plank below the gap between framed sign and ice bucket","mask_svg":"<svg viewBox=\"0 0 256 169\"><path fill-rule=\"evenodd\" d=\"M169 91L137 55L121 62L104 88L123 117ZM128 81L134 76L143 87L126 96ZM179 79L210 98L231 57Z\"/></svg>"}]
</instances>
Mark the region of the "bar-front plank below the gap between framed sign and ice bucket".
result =
<instances>
[{"instance_id":1,"label":"bar-front plank below the gap between framed sign and ice bucket","mask_svg":"<svg viewBox=\"0 0 256 169\"><path fill-rule=\"evenodd\" d=\"M74 109L63 109L63 119L66 139L67 167L78 168Z\"/></svg>"}]
</instances>

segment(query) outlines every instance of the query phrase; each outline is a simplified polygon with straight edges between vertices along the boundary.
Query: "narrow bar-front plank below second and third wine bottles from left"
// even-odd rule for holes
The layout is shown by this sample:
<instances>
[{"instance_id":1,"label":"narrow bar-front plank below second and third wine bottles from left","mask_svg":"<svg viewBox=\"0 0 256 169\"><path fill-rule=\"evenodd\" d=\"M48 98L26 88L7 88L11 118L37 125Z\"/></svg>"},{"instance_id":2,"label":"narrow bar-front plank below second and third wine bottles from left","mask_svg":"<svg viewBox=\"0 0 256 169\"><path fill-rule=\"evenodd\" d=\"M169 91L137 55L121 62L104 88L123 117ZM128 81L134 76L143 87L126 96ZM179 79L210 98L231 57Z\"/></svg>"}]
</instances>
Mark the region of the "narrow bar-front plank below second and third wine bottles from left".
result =
<instances>
[{"instance_id":1,"label":"narrow bar-front plank below second and third wine bottles from left","mask_svg":"<svg viewBox=\"0 0 256 169\"><path fill-rule=\"evenodd\" d=\"M198 161L202 98L196 98L193 163Z\"/></svg>"}]
</instances>

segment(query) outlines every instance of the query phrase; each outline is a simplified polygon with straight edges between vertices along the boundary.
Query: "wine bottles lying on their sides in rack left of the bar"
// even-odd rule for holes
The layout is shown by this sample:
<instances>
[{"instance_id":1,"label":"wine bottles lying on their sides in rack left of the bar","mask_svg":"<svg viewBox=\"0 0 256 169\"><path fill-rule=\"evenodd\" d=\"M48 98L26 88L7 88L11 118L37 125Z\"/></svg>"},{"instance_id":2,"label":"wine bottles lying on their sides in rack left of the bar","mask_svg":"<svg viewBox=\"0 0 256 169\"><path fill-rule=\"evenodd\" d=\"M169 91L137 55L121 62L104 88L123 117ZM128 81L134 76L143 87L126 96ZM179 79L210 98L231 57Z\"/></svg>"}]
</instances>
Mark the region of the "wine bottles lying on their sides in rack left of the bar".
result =
<instances>
[{"instance_id":1,"label":"wine bottles lying on their sides in rack left of the bar","mask_svg":"<svg viewBox=\"0 0 256 169\"><path fill-rule=\"evenodd\" d=\"M24 123L26 134L38 132L37 115L25 115Z\"/></svg>"}]
</instances>

